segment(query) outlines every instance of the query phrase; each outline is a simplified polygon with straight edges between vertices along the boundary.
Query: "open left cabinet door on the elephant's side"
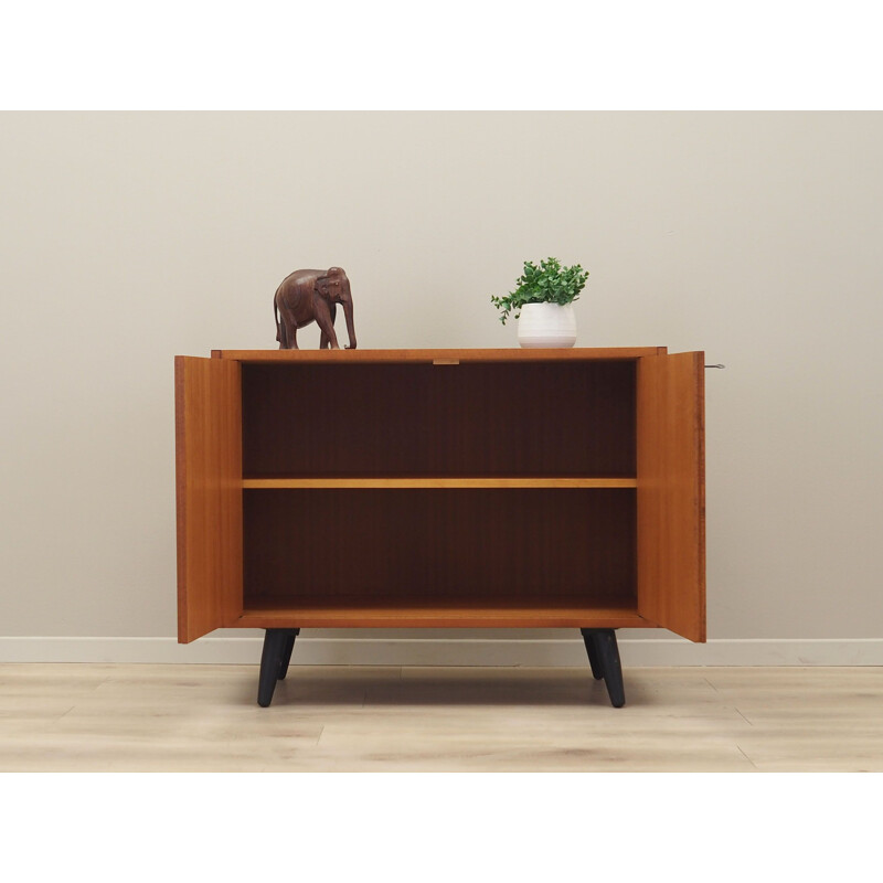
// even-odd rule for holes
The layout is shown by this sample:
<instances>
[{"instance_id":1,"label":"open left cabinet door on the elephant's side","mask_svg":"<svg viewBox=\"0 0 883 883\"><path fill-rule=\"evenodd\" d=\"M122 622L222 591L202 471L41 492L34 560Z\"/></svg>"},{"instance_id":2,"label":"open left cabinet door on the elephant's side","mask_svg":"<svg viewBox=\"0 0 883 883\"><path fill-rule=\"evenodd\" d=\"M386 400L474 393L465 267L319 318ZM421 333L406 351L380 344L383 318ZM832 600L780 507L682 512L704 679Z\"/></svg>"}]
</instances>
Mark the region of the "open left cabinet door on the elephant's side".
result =
<instances>
[{"instance_id":1,"label":"open left cabinet door on the elephant's side","mask_svg":"<svg viewBox=\"0 0 883 883\"><path fill-rule=\"evenodd\" d=\"M242 614L240 363L174 359L178 641Z\"/></svg>"}]
</instances>

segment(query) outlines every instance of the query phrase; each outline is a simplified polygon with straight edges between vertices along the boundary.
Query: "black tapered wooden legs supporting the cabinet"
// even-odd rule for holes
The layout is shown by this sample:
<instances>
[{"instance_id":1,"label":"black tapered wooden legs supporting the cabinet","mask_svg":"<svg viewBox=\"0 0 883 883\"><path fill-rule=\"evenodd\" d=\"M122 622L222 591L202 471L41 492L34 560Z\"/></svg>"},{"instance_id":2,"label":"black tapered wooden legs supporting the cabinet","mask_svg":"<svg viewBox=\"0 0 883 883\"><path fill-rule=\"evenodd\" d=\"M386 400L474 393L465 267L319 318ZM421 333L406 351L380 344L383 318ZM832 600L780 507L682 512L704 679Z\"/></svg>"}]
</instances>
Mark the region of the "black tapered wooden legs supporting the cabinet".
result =
<instances>
[{"instance_id":1,"label":"black tapered wooden legs supporting the cabinet","mask_svg":"<svg viewBox=\"0 0 883 883\"><path fill-rule=\"evenodd\" d=\"M619 648L616 631L611 628L582 628L592 674L596 680L604 679L610 704L620 709L626 703L623 687L623 667L619 662ZM260 673L257 684L257 704L266 709L273 702L276 682L285 679L295 639L299 628L268 628L264 635L264 650L260 655Z\"/></svg>"}]
</instances>

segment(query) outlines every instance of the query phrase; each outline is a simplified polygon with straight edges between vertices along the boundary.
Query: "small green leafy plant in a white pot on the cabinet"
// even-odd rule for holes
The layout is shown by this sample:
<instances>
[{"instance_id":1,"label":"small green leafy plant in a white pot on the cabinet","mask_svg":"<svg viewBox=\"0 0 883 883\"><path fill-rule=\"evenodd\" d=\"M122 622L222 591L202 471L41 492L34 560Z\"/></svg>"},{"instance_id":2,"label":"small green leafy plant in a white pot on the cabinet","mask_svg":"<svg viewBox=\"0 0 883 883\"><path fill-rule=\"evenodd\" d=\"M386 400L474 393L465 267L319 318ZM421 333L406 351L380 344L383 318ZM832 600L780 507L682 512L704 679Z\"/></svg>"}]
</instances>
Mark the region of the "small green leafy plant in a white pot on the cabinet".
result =
<instances>
[{"instance_id":1,"label":"small green leafy plant in a white pot on the cabinet","mask_svg":"<svg viewBox=\"0 0 883 883\"><path fill-rule=\"evenodd\" d=\"M573 347L576 343L576 317L573 302L588 279L588 270L579 264L562 267L555 257L547 257L538 267L524 262L524 273L515 290L506 297L491 296L506 325L510 312L518 319L518 342L522 347Z\"/></svg>"}]
</instances>

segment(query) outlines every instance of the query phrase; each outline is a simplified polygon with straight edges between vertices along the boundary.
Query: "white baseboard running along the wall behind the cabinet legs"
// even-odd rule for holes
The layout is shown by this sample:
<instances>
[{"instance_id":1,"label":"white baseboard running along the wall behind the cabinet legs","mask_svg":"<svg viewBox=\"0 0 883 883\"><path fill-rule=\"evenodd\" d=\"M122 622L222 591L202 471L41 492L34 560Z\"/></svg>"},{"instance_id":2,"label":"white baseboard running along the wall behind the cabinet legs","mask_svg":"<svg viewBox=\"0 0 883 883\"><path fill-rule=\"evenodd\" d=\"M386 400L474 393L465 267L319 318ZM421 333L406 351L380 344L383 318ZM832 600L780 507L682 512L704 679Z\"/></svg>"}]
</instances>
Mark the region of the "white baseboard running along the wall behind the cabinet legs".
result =
<instances>
[{"instance_id":1,"label":"white baseboard running along the wall behind the cabinet legs","mask_svg":"<svg viewBox=\"0 0 883 883\"><path fill-rule=\"evenodd\" d=\"M174 638L0 637L0 662L257 664L259 637ZM883 639L619 639L625 667L883 666ZM301 635L291 664L300 666L585 666L573 638L327 638Z\"/></svg>"}]
</instances>

